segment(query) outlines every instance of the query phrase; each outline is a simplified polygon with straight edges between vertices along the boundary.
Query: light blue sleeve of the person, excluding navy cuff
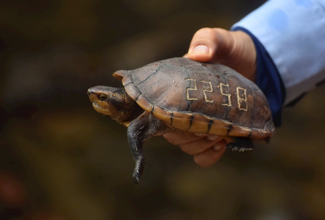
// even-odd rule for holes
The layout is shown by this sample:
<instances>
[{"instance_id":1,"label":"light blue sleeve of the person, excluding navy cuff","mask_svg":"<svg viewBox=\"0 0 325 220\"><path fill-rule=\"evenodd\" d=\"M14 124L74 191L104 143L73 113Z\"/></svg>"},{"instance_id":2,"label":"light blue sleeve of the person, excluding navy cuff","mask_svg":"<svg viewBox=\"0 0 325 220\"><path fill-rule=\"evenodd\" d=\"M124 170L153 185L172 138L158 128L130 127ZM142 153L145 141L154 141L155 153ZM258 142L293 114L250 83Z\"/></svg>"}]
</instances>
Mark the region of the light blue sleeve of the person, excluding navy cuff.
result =
<instances>
[{"instance_id":1,"label":"light blue sleeve of the person, excluding navy cuff","mask_svg":"<svg viewBox=\"0 0 325 220\"><path fill-rule=\"evenodd\" d=\"M325 79L325 0L269 0L234 24L266 48L288 104Z\"/></svg>"}]
</instances>

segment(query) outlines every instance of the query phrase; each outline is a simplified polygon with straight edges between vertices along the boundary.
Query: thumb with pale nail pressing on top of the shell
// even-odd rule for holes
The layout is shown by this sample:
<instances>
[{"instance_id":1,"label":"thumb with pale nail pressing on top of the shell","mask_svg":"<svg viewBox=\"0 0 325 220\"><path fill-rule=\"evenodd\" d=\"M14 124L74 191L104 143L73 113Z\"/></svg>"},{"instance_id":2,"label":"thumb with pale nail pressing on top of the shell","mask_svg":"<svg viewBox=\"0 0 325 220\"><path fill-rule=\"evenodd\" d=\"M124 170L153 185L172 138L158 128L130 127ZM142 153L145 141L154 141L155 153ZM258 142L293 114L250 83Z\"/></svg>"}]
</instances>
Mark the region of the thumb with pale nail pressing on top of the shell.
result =
<instances>
[{"instance_id":1,"label":"thumb with pale nail pressing on top of the shell","mask_svg":"<svg viewBox=\"0 0 325 220\"><path fill-rule=\"evenodd\" d=\"M232 34L221 28L202 28L192 38L188 58L201 61L216 61L226 57L233 46Z\"/></svg>"}]
</instances>

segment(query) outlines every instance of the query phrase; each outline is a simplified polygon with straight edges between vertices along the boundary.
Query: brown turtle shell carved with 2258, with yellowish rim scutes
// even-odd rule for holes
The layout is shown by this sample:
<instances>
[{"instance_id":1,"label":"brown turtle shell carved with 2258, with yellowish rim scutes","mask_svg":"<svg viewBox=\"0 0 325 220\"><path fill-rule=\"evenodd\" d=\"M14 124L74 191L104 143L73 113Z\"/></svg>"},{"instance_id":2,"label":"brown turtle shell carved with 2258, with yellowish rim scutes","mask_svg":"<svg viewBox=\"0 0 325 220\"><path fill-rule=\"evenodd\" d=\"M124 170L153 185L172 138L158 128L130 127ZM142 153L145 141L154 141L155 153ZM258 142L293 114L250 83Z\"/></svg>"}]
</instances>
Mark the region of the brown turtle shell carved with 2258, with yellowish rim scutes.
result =
<instances>
[{"instance_id":1,"label":"brown turtle shell carved with 2258, with yellowish rim scutes","mask_svg":"<svg viewBox=\"0 0 325 220\"><path fill-rule=\"evenodd\" d=\"M141 108L175 130L252 138L275 132L263 92L224 65L171 58L113 76Z\"/></svg>"}]
</instances>

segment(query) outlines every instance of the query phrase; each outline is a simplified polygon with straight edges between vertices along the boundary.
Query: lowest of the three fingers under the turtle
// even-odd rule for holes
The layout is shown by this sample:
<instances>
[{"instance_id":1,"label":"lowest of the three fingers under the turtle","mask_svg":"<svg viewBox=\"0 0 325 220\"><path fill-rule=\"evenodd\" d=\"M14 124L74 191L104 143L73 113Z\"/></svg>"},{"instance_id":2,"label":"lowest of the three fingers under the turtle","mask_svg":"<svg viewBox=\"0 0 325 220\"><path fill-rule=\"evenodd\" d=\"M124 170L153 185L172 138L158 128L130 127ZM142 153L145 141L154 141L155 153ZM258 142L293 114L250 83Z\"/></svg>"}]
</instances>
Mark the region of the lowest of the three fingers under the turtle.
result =
<instances>
[{"instance_id":1,"label":"lowest of the three fingers under the turtle","mask_svg":"<svg viewBox=\"0 0 325 220\"><path fill-rule=\"evenodd\" d=\"M226 142L220 141L214 147L205 150L202 153L194 154L194 162L202 167L209 167L217 162L226 151Z\"/></svg>"}]
</instances>

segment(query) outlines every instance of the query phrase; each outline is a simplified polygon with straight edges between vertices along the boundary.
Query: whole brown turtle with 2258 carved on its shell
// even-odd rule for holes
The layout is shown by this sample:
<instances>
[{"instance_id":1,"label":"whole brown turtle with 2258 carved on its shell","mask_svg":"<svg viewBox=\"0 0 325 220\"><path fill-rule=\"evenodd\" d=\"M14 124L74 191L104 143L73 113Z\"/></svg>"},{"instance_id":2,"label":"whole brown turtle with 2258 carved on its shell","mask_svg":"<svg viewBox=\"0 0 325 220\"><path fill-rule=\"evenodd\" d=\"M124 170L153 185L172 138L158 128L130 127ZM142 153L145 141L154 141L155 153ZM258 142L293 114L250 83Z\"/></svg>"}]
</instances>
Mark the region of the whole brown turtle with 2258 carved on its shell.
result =
<instances>
[{"instance_id":1,"label":"whole brown turtle with 2258 carved on its shell","mask_svg":"<svg viewBox=\"0 0 325 220\"><path fill-rule=\"evenodd\" d=\"M94 109L127 127L136 163L133 180L144 169L142 144L173 131L224 136L233 151L268 143L275 133L268 101L251 80L217 63L170 58L113 76L123 87L95 86L87 94Z\"/></svg>"}]
</instances>

